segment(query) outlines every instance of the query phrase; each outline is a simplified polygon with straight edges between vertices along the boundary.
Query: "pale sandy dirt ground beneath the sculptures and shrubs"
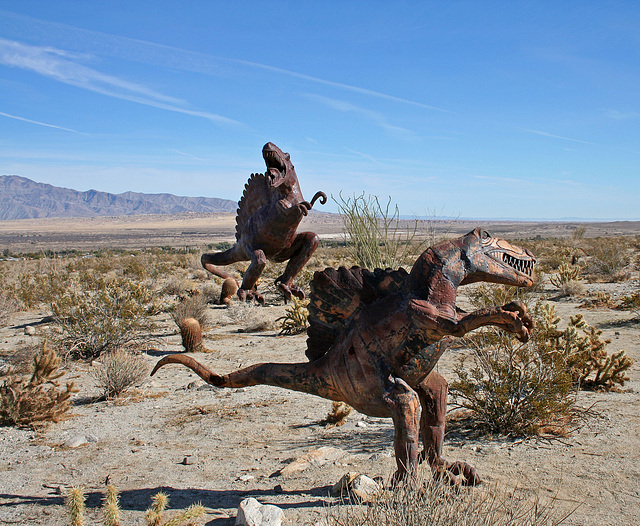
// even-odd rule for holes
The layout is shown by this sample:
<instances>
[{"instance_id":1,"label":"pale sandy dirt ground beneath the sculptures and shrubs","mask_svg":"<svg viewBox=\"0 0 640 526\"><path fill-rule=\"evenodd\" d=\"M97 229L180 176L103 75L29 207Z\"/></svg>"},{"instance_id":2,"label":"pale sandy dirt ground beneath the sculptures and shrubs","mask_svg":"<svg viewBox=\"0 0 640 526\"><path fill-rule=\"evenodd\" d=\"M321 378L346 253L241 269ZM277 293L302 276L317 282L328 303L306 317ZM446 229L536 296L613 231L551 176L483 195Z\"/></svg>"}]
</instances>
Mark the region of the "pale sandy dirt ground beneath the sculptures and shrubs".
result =
<instances>
[{"instance_id":1,"label":"pale sandy dirt ground beneath the sculptures and shrubs","mask_svg":"<svg viewBox=\"0 0 640 526\"><path fill-rule=\"evenodd\" d=\"M638 290L634 280L588 285L614 297ZM463 290L463 289L461 289ZM551 286L547 294L552 295ZM276 302L277 303L277 302ZM445 456L473 464L487 484L556 498L558 511L574 510L564 524L640 524L640 324L625 311L579 309L577 301L556 301L565 320L581 312L610 338L610 353L625 349L634 360L630 381L620 392L581 392L578 405L591 416L571 436L556 440L469 438L448 434ZM281 304L260 315L275 320ZM0 330L0 358L36 342L44 334L46 312L22 313ZM261 361L304 360L305 335L277 331L238 332L224 307L210 307L205 344L210 352L194 356L226 373ZM28 336L25 327L36 334ZM175 324L159 319L157 350L144 354L151 367L160 357L182 350ZM456 354L450 351L438 370L453 378ZM73 380L71 418L41 432L0 428L0 524L66 525L64 495L85 488L87 524L101 524L105 481L121 491L124 524L142 524L152 495L164 491L170 508L201 502L203 524L234 523L239 502L249 496L275 504L285 524L320 524L332 499L329 487L348 471L385 479L395 469L390 420L354 413L341 427L319 422L330 402L278 388L216 389L190 370L170 365L145 380L130 396L95 401L99 394L90 364L70 362L63 380ZM87 436L79 447L69 440ZM291 460L320 447L343 452L321 466L291 476L277 475Z\"/></svg>"}]
</instances>

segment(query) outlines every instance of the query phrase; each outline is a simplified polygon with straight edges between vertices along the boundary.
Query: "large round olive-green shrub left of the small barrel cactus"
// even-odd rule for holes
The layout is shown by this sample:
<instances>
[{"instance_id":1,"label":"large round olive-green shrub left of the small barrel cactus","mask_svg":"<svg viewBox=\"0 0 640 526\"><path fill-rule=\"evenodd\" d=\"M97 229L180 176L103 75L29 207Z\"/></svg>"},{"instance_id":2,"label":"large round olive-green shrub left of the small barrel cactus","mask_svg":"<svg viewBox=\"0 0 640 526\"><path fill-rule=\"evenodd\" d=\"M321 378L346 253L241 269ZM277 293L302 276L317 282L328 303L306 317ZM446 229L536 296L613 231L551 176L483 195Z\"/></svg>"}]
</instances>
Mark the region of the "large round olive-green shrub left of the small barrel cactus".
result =
<instances>
[{"instance_id":1,"label":"large round olive-green shrub left of the small barrel cactus","mask_svg":"<svg viewBox=\"0 0 640 526\"><path fill-rule=\"evenodd\" d=\"M57 343L75 358L97 358L103 352L149 339L157 311L156 294L141 283L117 277L106 280L83 272L64 294L51 302L62 334Z\"/></svg>"}]
</instances>

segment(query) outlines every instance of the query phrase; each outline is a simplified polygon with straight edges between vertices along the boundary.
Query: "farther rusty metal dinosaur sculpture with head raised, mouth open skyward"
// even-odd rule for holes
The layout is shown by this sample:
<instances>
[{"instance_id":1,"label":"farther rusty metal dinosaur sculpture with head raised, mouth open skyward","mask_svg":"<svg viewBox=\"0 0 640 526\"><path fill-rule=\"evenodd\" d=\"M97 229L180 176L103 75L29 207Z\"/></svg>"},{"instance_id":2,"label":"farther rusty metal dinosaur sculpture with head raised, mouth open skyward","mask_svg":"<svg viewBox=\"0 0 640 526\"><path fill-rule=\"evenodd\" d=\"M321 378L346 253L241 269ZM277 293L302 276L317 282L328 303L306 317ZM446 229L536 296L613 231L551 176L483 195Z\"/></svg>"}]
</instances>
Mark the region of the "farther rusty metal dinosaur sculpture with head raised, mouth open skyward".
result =
<instances>
[{"instance_id":1,"label":"farther rusty metal dinosaur sculpture with head raised, mouth open skyward","mask_svg":"<svg viewBox=\"0 0 640 526\"><path fill-rule=\"evenodd\" d=\"M276 283L285 300L291 295L303 299L304 292L293 279L318 248L319 240L313 232L296 233L296 230L315 201L320 199L325 204L327 196L317 192L311 202L305 201L291 157L275 144L265 144L262 157L267 171L251 174L238 201L236 243L224 252L203 254L202 266L212 274L228 279L233 276L218 266L251 261L237 295L242 301L255 299L264 303L257 282L267 260L289 260Z\"/></svg>"}]
</instances>

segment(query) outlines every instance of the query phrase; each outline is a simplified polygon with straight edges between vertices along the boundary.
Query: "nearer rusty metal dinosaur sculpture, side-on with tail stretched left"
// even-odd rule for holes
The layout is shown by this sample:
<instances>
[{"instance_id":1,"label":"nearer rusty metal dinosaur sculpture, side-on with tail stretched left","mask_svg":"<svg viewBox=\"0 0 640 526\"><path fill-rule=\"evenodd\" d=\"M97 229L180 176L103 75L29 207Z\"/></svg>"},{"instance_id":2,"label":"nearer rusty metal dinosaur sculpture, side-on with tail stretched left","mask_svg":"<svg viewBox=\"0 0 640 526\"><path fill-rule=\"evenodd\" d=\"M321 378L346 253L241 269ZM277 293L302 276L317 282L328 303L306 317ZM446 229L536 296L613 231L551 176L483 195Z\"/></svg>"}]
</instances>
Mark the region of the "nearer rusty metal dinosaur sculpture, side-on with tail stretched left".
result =
<instances>
[{"instance_id":1,"label":"nearer rusty metal dinosaur sculpture, side-on with tail stretched left","mask_svg":"<svg viewBox=\"0 0 640 526\"><path fill-rule=\"evenodd\" d=\"M465 313L459 285L486 281L530 287L535 258L526 249L476 229L425 250L410 273L328 268L311 282L307 363L262 363L216 374L189 356L173 354L153 369L181 363L217 387L266 384L343 401L361 413L391 417L394 481L427 460L453 483L480 482L465 462L442 457L447 382L434 366L451 336L494 325L527 341L533 319L511 302ZM422 436L423 450L418 451Z\"/></svg>"}]
</instances>

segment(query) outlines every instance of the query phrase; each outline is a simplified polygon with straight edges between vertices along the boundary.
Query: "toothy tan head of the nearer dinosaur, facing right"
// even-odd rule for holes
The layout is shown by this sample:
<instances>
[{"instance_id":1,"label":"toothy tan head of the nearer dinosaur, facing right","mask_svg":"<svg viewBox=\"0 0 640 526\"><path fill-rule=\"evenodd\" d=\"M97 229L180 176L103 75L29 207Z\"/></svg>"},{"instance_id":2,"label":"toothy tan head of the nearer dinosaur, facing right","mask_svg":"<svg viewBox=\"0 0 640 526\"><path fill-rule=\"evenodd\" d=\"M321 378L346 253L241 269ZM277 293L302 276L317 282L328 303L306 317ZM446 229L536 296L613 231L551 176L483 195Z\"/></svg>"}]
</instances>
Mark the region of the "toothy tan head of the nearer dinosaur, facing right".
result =
<instances>
[{"instance_id":1,"label":"toothy tan head of the nearer dinosaur, facing right","mask_svg":"<svg viewBox=\"0 0 640 526\"><path fill-rule=\"evenodd\" d=\"M465 276L460 285L487 281L502 285L531 287L535 257L526 248L493 237L476 228L457 240L465 260Z\"/></svg>"}]
</instances>

